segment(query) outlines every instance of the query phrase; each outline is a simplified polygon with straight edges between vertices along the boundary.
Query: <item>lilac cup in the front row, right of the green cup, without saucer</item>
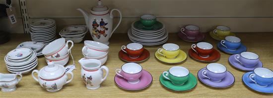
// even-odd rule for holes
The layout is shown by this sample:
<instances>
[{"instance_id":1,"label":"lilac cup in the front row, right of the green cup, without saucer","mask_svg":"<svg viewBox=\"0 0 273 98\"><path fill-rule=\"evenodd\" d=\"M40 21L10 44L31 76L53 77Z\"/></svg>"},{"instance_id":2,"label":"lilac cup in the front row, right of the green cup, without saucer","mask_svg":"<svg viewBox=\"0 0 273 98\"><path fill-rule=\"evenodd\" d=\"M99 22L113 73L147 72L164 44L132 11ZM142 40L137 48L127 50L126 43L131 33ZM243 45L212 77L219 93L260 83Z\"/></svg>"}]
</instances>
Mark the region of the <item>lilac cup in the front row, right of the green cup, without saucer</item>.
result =
<instances>
[{"instance_id":1,"label":"lilac cup in the front row, right of the green cup, without saucer","mask_svg":"<svg viewBox=\"0 0 273 98\"><path fill-rule=\"evenodd\" d=\"M207 64L206 69L202 71L202 75L212 82L221 82L226 73L226 67L219 63Z\"/></svg>"}]
</instances>

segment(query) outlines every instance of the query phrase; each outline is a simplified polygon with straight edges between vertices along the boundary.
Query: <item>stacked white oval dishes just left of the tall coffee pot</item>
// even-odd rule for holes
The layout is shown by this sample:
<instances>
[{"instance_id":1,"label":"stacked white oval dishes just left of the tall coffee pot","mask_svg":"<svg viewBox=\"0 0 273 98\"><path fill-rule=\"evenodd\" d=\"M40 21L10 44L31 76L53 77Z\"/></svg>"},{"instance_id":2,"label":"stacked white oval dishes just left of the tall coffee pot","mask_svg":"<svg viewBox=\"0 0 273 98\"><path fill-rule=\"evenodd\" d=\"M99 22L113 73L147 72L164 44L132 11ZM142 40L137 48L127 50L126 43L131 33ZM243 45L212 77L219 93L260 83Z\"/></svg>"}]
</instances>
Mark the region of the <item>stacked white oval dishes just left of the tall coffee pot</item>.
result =
<instances>
[{"instance_id":1,"label":"stacked white oval dishes just left of the tall coffee pot","mask_svg":"<svg viewBox=\"0 0 273 98\"><path fill-rule=\"evenodd\" d=\"M62 31L60 31L59 35L62 38L65 38L67 41L71 40L74 43L80 43L86 32L88 32L88 28L85 25L72 25L65 27Z\"/></svg>"}]
</instances>

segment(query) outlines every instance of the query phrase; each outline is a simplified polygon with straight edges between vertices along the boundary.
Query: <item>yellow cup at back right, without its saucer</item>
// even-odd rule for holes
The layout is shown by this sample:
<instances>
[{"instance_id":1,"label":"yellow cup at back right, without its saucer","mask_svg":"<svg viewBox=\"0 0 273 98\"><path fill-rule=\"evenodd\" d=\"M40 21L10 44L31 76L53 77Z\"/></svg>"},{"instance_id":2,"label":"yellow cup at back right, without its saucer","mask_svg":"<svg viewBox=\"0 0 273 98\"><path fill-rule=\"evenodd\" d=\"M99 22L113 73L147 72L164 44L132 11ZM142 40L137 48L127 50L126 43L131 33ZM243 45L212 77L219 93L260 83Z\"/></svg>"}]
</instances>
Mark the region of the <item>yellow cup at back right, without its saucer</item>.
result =
<instances>
[{"instance_id":1,"label":"yellow cup at back right, without its saucer","mask_svg":"<svg viewBox=\"0 0 273 98\"><path fill-rule=\"evenodd\" d=\"M227 26L217 26L216 29L213 30L213 34L218 37L226 37L230 34L230 28Z\"/></svg>"}]
</instances>

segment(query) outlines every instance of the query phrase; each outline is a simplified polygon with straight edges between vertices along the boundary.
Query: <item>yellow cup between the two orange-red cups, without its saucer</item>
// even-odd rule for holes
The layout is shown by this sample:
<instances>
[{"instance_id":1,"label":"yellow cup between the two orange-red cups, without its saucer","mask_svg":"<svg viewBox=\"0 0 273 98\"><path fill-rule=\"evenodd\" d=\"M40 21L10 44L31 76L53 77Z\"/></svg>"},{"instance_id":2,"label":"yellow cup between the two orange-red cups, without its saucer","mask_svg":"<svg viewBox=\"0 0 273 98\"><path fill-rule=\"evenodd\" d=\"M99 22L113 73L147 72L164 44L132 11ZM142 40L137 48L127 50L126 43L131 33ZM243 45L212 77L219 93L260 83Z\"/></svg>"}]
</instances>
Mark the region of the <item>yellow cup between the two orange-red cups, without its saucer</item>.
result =
<instances>
[{"instance_id":1,"label":"yellow cup between the two orange-red cups, without its saucer","mask_svg":"<svg viewBox=\"0 0 273 98\"><path fill-rule=\"evenodd\" d=\"M164 44L161 49L157 49L157 52L168 59L175 59L180 52L180 48L176 44L168 43Z\"/></svg>"}]
</instances>

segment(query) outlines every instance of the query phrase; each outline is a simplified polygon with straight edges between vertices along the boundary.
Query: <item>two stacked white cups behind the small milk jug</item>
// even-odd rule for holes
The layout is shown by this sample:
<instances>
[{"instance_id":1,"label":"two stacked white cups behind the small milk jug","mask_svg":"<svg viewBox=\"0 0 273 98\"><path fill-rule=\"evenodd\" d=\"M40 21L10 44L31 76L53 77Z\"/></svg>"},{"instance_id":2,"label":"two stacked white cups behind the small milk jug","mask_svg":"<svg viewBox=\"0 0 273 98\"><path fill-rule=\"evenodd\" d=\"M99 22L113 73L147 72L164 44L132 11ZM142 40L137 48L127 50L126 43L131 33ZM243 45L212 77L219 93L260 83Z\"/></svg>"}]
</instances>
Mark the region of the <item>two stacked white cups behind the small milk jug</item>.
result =
<instances>
[{"instance_id":1,"label":"two stacked white cups behind the small milk jug","mask_svg":"<svg viewBox=\"0 0 273 98\"><path fill-rule=\"evenodd\" d=\"M103 65L108 58L109 46L95 42L84 41L84 47L82 48L82 54L86 59L97 59Z\"/></svg>"}]
</instances>

